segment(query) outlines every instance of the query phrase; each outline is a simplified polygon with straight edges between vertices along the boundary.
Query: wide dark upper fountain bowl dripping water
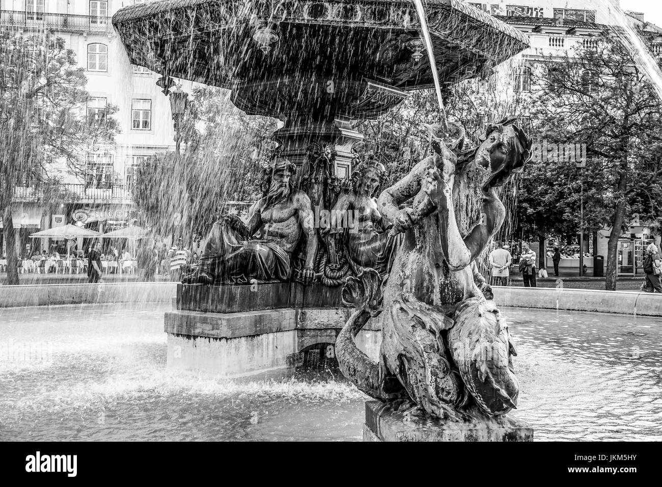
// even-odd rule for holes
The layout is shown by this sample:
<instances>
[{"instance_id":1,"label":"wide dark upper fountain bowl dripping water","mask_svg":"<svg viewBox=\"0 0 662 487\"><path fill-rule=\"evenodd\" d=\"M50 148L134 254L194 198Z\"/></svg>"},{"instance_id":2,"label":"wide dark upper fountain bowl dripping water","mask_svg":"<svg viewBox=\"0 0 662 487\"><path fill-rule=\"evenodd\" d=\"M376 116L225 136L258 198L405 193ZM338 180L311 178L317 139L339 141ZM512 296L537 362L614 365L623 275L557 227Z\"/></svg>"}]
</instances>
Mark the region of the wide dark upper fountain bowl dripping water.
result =
<instances>
[{"instance_id":1,"label":"wide dark upper fountain bowl dripping water","mask_svg":"<svg viewBox=\"0 0 662 487\"><path fill-rule=\"evenodd\" d=\"M442 84L528 47L463 1L428 0L426 13ZM253 114L371 118L434 82L411 1L162 0L121 9L113 25L133 64L232 89Z\"/></svg>"}]
</instances>

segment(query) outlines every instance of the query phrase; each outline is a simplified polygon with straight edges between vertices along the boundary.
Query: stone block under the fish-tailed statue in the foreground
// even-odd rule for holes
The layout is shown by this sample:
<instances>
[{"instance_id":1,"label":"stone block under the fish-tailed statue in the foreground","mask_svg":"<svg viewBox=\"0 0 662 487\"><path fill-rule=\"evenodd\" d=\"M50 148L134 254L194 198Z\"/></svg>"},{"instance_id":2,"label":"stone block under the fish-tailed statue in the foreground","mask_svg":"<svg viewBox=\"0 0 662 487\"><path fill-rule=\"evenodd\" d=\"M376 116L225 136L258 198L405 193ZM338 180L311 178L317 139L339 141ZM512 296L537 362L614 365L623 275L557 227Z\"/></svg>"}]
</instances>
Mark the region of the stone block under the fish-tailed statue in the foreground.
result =
<instances>
[{"instance_id":1,"label":"stone block under the fish-tailed statue in the foreground","mask_svg":"<svg viewBox=\"0 0 662 487\"><path fill-rule=\"evenodd\" d=\"M394 411L381 401L365 403L363 441L533 441L534 430L509 415L491 423L444 421Z\"/></svg>"}]
</instances>

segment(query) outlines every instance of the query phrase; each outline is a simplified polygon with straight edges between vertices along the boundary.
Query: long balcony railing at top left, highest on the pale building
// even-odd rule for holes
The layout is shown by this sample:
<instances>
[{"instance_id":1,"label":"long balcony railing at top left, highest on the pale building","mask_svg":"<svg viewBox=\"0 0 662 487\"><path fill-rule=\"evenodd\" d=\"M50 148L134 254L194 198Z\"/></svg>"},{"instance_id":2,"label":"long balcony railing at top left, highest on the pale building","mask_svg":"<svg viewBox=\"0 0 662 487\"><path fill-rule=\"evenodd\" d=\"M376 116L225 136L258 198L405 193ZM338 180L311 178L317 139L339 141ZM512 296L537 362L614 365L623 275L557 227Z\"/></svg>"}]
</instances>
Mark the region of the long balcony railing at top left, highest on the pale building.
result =
<instances>
[{"instance_id":1,"label":"long balcony railing at top left, highest on the pale building","mask_svg":"<svg viewBox=\"0 0 662 487\"><path fill-rule=\"evenodd\" d=\"M35 13L20 10L0 11L0 26L74 32L113 32L110 17L70 15L68 13Z\"/></svg>"}]
</instances>

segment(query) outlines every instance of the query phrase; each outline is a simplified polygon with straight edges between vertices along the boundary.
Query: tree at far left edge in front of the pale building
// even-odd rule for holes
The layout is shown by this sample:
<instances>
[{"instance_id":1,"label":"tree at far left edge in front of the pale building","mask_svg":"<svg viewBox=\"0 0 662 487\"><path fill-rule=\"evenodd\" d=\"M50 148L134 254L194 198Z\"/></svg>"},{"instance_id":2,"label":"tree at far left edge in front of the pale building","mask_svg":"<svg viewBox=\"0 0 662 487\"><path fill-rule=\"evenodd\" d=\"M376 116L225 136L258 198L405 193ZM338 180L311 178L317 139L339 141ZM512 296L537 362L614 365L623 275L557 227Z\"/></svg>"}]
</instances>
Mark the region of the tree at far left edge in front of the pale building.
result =
<instances>
[{"instance_id":1,"label":"tree at far left edge in front of the pale building","mask_svg":"<svg viewBox=\"0 0 662 487\"><path fill-rule=\"evenodd\" d=\"M7 242L7 284L19 284L12 219L14 188L30 180L36 188L57 184L52 170L64 163L84 170L85 154L108 148L117 123L108 106L87 119L83 68L62 38L0 32L0 211Z\"/></svg>"}]
</instances>

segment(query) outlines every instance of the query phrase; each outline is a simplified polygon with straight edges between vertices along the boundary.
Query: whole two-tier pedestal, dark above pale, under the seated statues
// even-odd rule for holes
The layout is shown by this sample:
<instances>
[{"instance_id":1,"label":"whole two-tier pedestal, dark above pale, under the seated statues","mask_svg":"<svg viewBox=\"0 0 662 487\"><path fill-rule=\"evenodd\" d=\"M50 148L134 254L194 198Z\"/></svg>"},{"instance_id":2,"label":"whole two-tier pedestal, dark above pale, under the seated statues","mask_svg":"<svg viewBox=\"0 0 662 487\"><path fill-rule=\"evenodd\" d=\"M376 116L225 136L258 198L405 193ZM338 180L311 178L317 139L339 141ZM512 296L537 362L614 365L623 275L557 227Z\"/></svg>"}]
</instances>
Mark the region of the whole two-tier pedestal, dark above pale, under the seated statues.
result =
<instances>
[{"instance_id":1,"label":"whole two-tier pedestal, dark above pale, under the seated statues","mask_svg":"<svg viewBox=\"0 0 662 487\"><path fill-rule=\"evenodd\" d=\"M173 307L165 319L168 366L223 376L285 367L318 345L333 347L354 311L342 306L340 288L296 283L179 284ZM375 360L379 326L373 320L356 337Z\"/></svg>"}]
</instances>

